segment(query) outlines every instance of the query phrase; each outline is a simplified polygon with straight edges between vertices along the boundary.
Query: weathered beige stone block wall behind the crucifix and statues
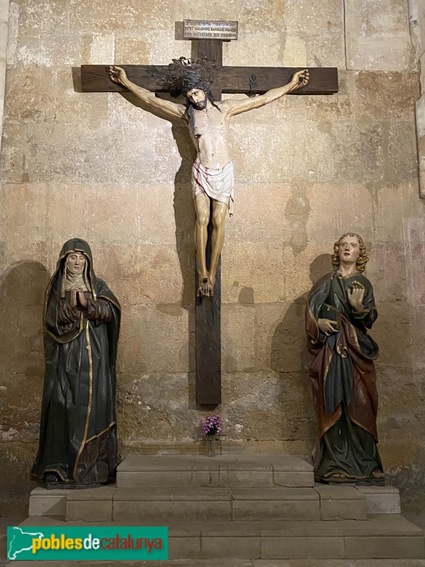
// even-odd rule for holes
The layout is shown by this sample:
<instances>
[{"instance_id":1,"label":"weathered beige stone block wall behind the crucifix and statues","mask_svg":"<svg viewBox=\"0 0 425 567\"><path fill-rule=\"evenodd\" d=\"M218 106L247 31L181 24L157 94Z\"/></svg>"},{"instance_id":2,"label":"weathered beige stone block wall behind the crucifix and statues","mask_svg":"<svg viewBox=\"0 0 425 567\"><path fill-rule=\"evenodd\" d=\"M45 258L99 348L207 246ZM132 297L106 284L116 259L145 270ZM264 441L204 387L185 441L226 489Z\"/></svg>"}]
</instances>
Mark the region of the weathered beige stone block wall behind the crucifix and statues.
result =
<instances>
[{"instance_id":1,"label":"weathered beige stone block wall behind the crucifix and statues","mask_svg":"<svg viewBox=\"0 0 425 567\"><path fill-rule=\"evenodd\" d=\"M242 14L243 16L240 16ZM385 15L383 17L382 15ZM222 254L225 451L310 455L317 432L303 315L332 243L360 232L381 347L385 468L424 488L424 202L417 57L404 0L25 0L10 6L0 196L0 459L28 490L43 380L42 301L69 237L123 304L121 453L199 451L194 403L194 150L130 95L82 94L79 65L191 55L183 18L239 19L225 64L334 66L339 94L233 119L236 206ZM7 460L5 460L7 459Z\"/></svg>"}]
</instances>

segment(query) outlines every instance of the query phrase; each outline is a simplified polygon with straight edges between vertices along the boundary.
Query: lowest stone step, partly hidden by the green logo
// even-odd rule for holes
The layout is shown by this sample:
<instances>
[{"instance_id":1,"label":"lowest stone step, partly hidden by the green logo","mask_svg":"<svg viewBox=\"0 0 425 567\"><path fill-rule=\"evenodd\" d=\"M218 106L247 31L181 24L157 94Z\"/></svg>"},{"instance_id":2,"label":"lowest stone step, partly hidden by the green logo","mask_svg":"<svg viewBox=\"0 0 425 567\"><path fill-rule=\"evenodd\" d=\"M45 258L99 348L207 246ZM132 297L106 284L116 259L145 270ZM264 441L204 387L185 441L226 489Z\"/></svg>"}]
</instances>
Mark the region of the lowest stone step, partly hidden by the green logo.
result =
<instances>
[{"instance_id":1,"label":"lowest stone step, partly hidden by the green logo","mask_svg":"<svg viewBox=\"0 0 425 567\"><path fill-rule=\"evenodd\" d=\"M81 524L94 525L35 516L21 526ZM142 519L96 522L96 526L129 524L146 525L146 522ZM166 522L166 525L170 559L424 558L422 530L399 514L328 522Z\"/></svg>"}]
</instances>

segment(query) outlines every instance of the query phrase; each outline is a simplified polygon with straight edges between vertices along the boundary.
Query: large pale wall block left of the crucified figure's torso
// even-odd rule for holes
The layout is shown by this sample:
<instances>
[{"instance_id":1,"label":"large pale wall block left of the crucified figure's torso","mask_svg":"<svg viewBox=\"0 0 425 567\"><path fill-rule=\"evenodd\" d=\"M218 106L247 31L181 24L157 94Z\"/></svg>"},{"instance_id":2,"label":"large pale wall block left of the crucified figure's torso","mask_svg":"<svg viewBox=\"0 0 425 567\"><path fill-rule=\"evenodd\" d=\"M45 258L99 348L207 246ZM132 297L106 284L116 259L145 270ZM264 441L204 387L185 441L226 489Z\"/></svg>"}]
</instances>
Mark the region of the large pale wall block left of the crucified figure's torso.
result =
<instances>
[{"instance_id":1,"label":"large pale wall block left of the crucified figure's torso","mask_svg":"<svg viewBox=\"0 0 425 567\"><path fill-rule=\"evenodd\" d=\"M66 184L72 179L92 184L94 179L101 179L106 186L136 186L142 179L145 184L166 184L180 167L179 152L167 128L166 123L157 128L152 142L152 129L143 120L128 128L107 124L95 130L82 123L77 151L74 138L63 137L62 125L29 123L25 131L25 171L30 172L29 178L35 183ZM169 155L166 162L156 157L157 144L164 145ZM18 175L17 171L13 181Z\"/></svg>"}]
</instances>

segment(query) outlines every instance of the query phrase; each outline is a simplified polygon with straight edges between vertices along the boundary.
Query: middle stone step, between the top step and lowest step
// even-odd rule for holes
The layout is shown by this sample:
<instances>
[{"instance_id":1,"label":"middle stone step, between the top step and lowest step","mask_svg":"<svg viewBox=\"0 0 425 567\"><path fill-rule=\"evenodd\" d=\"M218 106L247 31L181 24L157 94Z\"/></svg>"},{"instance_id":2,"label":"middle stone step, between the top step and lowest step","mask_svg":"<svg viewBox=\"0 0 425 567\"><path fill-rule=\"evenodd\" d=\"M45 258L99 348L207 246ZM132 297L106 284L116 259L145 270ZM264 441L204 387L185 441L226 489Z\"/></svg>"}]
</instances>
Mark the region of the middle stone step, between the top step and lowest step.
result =
<instances>
[{"instance_id":1,"label":"middle stone step, between the top step and lowest step","mask_svg":"<svg viewBox=\"0 0 425 567\"><path fill-rule=\"evenodd\" d=\"M89 488L70 490L67 520L237 522L365 520L365 496L347 486L317 488Z\"/></svg>"}]
</instances>

